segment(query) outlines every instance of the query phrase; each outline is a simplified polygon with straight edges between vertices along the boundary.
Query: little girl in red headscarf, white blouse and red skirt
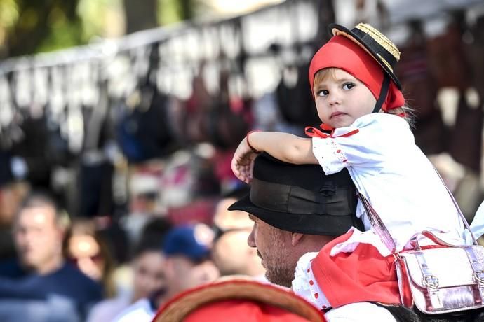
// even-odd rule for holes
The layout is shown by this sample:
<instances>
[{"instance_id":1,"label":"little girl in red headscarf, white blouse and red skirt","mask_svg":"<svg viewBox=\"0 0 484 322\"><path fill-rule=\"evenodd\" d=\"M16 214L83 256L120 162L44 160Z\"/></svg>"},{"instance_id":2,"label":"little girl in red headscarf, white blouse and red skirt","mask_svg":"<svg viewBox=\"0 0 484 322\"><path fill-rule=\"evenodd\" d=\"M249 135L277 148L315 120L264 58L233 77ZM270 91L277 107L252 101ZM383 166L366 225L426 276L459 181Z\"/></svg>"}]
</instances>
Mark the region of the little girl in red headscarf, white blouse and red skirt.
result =
<instances>
[{"instance_id":1,"label":"little girl in red headscarf, white blouse and red skirt","mask_svg":"<svg viewBox=\"0 0 484 322\"><path fill-rule=\"evenodd\" d=\"M234 174L249 183L260 151L285 162L319 164L325 174L347 168L359 193L394 238L396 251L412 248L414 237L421 246L429 244L418 236L423 230L449 244L464 244L464 226L452 197L415 146L405 120L408 108L393 71L400 52L369 25L359 24L351 31L330 25L330 31L332 38L316 52L309 67L321 127L330 133L311 127L306 132L312 138L250 132L234 154ZM373 230L361 202L356 212L364 232L352 228L316 258L316 254L303 256L298 264L297 272L304 272L304 279L309 276L311 281L306 297L318 306L401 302L389 246ZM314 276L318 285L312 281ZM300 281L295 283L293 287L304 288Z\"/></svg>"}]
</instances>

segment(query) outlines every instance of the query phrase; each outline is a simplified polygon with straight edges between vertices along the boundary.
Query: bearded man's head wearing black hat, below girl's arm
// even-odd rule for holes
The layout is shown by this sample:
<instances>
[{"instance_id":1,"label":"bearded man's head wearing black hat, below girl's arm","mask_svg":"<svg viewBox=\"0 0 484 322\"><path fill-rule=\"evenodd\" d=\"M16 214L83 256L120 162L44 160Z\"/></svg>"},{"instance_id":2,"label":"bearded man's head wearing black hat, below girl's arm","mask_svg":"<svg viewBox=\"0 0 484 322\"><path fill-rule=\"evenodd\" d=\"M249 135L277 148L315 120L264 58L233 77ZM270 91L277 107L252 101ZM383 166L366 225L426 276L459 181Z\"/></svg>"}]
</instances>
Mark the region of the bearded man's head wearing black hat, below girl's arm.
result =
<instances>
[{"instance_id":1,"label":"bearded man's head wearing black hat, below girl's arm","mask_svg":"<svg viewBox=\"0 0 484 322\"><path fill-rule=\"evenodd\" d=\"M325 176L319 165L291 165L262 153L249 195L229 210L250 214L248 245L257 248L269 281L290 286L304 253L319 251L351 226L363 229L356 202L347 170Z\"/></svg>"}]
</instances>

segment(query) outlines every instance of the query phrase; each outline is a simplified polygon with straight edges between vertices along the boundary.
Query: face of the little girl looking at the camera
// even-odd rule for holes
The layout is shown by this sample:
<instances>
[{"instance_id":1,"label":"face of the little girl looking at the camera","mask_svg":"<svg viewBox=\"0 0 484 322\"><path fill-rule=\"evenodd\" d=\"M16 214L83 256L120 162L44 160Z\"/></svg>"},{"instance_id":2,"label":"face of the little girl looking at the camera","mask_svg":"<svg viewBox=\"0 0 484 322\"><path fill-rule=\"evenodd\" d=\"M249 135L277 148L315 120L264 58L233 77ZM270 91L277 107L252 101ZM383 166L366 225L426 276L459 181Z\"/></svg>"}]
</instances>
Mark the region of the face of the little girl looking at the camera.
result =
<instances>
[{"instance_id":1,"label":"face of the little girl looking at the camera","mask_svg":"<svg viewBox=\"0 0 484 322\"><path fill-rule=\"evenodd\" d=\"M319 118L335 128L347 127L372 113L377 102L360 80L337 68L329 69L323 77L316 76L313 90Z\"/></svg>"}]
</instances>

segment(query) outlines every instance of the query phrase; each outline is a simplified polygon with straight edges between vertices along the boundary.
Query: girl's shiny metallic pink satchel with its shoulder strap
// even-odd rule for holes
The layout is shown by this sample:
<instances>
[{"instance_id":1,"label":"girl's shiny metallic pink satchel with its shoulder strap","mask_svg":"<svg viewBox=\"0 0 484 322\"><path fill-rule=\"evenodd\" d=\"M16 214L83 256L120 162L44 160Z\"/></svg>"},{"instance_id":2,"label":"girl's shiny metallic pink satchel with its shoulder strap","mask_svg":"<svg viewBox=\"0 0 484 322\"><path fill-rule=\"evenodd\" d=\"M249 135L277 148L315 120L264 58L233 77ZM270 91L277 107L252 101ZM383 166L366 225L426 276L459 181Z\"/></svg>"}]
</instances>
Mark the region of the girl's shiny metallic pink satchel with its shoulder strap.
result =
<instances>
[{"instance_id":1,"label":"girl's shiny metallic pink satchel with its shoulder strap","mask_svg":"<svg viewBox=\"0 0 484 322\"><path fill-rule=\"evenodd\" d=\"M471 232L452 194L450 197ZM472 232L472 246L454 246L424 231L420 235L431 239L435 245L420 247L415 242L414 249L399 252L377 211L361 194L360 199L375 232L394 255L398 288L405 307L413 304L424 314L484 308L484 247L478 245ZM411 303L405 301L408 290L412 295Z\"/></svg>"}]
</instances>

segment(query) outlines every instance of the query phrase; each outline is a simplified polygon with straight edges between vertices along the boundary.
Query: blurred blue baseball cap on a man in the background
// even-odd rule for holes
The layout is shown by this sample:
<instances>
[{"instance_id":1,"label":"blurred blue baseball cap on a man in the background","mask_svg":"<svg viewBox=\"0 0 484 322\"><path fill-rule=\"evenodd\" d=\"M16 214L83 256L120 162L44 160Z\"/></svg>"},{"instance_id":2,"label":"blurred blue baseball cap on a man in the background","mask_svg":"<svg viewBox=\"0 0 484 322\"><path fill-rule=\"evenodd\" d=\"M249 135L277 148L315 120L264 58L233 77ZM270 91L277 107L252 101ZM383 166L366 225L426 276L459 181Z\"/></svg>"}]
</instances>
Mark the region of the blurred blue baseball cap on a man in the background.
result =
<instances>
[{"instance_id":1,"label":"blurred blue baseball cap on a man in the background","mask_svg":"<svg viewBox=\"0 0 484 322\"><path fill-rule=\"evenodd\" d=\"M214 232L207 225L182 225L172 228L163 239L163 253L170 257L183 255L201 262L210 257Z\"/></svg>"}]
</instances>

